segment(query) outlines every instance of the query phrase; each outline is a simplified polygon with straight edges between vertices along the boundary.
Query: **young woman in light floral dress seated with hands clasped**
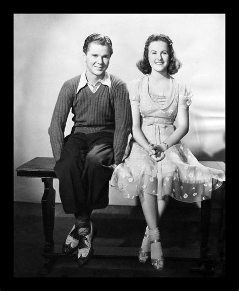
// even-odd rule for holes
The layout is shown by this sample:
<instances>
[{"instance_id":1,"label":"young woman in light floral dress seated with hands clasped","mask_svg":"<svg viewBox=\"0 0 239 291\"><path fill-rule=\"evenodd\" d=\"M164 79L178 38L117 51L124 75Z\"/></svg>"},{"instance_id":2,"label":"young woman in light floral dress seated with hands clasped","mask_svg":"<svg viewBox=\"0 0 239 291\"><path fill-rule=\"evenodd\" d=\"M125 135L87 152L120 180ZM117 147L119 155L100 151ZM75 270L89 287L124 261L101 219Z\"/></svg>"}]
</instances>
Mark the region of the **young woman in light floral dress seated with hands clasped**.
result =
<instances>
[{"instance_id":1,"label":"young woman in light floral dress seated with hands clasped","mask_svg":"<svg viewBox=\"0 0 239 291\"><path fill-rule=\"evenodd\" d=\"M137 67L144 76L129 86L133 117L130 154L115 168L110 185L126 198L139 196L147 223L139 261L145 263L151 257L155 269L162 270L158 223L167 197L184 202L209 199L225 175L200 164L182 140L189 131L193 94L171 76L181 67L171 39L150 35ZM173 125L176 116L177 128Z\"/></svg>"}]
</instances>

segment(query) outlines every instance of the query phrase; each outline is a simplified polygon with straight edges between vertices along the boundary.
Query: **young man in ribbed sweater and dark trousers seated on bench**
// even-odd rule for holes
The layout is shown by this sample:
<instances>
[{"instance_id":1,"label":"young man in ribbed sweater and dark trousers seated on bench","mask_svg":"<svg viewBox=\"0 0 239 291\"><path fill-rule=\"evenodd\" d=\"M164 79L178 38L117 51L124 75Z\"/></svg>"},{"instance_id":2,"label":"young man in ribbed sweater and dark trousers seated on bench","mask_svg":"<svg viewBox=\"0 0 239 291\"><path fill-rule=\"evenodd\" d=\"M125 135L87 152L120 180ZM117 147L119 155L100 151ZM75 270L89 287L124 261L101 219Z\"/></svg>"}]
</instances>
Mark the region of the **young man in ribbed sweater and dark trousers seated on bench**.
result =
<instances>
[{"instance_id":1,"label":"young man in ribbed sweater and dark trousers seated on bench","mask_svg":"<svg viewBox=\"0 0 239 291\"><path fill-rule=\"evenodd\" d=\"M113 53L110 38L89 35L83 52L86 70L64 83L48 130L63 208L76 217L63 253L78 250L79 266L93 255L90 215L108 205L108 181L122 162L132 120L125 82L106 72ZM70 109L74 126L64 138Z\"/></svg>"}]
</instances>

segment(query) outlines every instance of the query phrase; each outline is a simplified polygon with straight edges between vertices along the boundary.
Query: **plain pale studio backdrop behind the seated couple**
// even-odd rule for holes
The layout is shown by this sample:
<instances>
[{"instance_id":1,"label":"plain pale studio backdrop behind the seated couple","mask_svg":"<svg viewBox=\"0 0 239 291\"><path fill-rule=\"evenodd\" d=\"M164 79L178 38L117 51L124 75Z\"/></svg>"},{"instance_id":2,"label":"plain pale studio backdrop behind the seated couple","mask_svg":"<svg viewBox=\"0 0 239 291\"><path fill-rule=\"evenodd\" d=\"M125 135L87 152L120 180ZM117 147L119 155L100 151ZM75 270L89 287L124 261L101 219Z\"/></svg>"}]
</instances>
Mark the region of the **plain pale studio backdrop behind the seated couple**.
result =
<instances>
[{"instance_id":1,"label":"plain pale studio backdrop behind the seated couple","mask_svg":"<svg viewBox=\"0 0 239 291\"><path fill-rule=\"evenodd\" d=\"M53 109L64 82L85 69L82 48L91 33L111 38L108 72L127 83L143 76L136 62L147 37L168 35L183 63L173 77L194 94L184 140L199 160L225 160L225 14L14 14L14 201L41 202L41 179L18 178L15 170L34 157L53 157ZM135 201L110 189L110 203Z\"/></svg>"}]
</instances>

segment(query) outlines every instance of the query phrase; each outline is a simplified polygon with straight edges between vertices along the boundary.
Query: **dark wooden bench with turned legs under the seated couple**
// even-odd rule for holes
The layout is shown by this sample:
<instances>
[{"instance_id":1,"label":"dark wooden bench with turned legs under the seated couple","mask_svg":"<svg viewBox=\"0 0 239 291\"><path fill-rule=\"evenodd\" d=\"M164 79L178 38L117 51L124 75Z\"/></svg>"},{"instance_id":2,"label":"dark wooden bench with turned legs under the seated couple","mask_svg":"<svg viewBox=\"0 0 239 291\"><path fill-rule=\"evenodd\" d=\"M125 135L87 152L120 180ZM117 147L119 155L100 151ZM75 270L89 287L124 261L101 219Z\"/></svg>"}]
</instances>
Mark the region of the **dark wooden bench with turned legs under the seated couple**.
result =
<instances>
[{"instance_id":1,"label":"dark wooden bench with turned legs under the seated couple","mask_svg":"<svg viewBox=\"0 0 239 291\"><path fill-rule=\"evenodd\" d=\"M210 168L215 168L225 172L225 163L221 161L200 161L203 165ZM49 263L49 256L54 253L54 216L55 216L55 190L53 188L53 179L57 178L53 170L55 165L54 159L51 157L35 157L32 160L22 164L16 169L18 177L41 178L44 183L44 192L41 199L42 205L42 219L43 229L45 235L45 265ZM222 200L224 201L224 187L222 192ZM200 257L202 260L206 259L207 245L210 232L210 219L211 219L211 199L202 201L201 204L201 252ZM221 205L221 218L220 218L220 239L224 239L224 202Z\"/></svg>"}]
</instances>

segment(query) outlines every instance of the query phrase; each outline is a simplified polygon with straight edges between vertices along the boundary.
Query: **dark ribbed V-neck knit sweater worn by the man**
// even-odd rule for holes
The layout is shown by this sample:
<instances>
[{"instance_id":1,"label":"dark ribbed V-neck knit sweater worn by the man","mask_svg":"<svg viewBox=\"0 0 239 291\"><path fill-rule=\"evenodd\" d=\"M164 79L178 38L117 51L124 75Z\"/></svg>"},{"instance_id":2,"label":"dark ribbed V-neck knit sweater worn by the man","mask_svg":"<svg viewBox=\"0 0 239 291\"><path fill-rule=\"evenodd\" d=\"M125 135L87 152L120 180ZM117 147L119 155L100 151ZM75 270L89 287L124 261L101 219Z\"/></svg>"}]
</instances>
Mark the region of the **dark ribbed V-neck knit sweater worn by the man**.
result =
<instances>
[{"instance_id":1,"label":"dark ribbed V-neck knit sweater worn by the man","mask_svg":"<svg viewBox=\"0 0 239 291\"><path fill-rule=\"evenodd\" d=\"M110 74L110 90L101 84L92 93L86 85L76 93L80 77L78 75L67 80L59 92L48 130L53 157L57 161L61 156L67 118L72 109L72 133L104 131L114 134L114 163L119 164L125 153L132 122L127 86L120 78Z\"/></svg>"}]
</instances>

